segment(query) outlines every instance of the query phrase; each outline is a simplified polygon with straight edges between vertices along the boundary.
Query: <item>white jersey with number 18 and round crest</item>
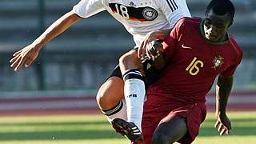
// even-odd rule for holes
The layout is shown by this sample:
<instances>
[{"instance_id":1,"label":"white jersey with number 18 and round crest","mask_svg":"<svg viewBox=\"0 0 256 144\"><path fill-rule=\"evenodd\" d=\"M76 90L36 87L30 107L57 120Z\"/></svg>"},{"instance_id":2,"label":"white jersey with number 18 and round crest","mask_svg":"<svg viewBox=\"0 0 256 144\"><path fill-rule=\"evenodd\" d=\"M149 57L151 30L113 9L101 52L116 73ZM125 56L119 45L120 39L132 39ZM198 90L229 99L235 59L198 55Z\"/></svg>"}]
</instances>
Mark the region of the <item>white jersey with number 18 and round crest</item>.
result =
<instances>
[{"instance_id":1,"label":"white jersey with number 18 and round crest","mask_svg":"<svg viewBox=\"0 0 256 144\"><path fill-rule=\"evenodd\" d=\"M73 11L88 18L107 10L133 35L139 46L146 34L171 29L182 17L190 17L186 0L82 0Z\"/></svg>"}]
</instances>

